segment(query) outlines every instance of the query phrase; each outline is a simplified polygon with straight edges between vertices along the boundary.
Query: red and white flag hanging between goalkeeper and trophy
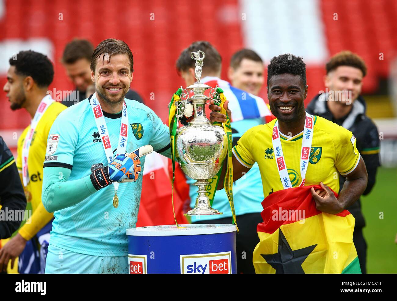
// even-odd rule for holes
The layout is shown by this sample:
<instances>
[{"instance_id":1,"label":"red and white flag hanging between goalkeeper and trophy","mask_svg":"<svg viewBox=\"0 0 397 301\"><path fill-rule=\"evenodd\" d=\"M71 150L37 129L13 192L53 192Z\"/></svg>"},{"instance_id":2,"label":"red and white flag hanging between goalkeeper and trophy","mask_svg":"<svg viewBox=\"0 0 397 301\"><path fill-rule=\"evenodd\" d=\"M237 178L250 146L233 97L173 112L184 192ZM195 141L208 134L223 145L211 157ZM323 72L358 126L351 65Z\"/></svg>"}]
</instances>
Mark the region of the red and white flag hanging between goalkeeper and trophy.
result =
<instances>
[{"instance_id":1,"label":"red and white flag hanging between goalkeeper and trophy","mask_svg":"<svg viewBox=\"0 0 397 301\"><path fill-rule=\"evenodd\" d=\"M172 169L169 171L171 160L156 153L146 155L143 169L141 204L139 206L137 227L172 225L175 220L172 213L171 181ZM185 181L177 181L180 168L175 170L175 186L173 202L178 224L188 223L183 216L183 204L189 198L189 186Z\"/></svg>"}]
</instances>

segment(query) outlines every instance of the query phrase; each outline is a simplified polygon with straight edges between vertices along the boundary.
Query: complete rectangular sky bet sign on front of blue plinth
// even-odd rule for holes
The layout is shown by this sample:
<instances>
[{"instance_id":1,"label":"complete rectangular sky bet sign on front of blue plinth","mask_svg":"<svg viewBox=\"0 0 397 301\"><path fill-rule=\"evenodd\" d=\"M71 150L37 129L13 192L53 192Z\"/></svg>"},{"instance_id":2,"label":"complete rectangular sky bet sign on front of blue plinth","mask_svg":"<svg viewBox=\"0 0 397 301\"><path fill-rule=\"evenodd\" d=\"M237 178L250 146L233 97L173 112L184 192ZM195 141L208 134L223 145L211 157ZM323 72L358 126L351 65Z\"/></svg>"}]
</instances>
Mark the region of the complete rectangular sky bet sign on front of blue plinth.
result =
<instances>
[{"instance_id":1,"label":"complete rectangular sky bet sign on front of blue plinth","mask_svg":"<svg viewBox=\"0 0 397 301\"><path fill-rule=\"evenodd\" d=\"M231 252L181 255L181 274L231 274Z\"/></svg>"}]
</instances>

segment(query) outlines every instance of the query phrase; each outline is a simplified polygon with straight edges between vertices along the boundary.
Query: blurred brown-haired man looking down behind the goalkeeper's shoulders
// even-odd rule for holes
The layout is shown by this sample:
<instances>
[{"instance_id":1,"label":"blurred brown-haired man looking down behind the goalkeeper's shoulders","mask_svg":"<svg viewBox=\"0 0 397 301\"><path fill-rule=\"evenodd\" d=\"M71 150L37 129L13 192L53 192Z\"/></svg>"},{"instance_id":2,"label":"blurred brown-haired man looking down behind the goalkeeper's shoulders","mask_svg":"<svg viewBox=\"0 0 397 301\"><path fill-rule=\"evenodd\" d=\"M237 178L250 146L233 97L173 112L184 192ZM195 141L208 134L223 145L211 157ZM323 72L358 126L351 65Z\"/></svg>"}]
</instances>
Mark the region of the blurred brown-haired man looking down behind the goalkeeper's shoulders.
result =
<instances>
[{"instance_id":1,"label":"blurred brown-haired man looking down behind the goalkeeper's shoulders","mask_svg":"<svg viewBox=\"0 0 397 301\"><path fill-rule=\"evenodd\" d=\"M67 76L75 85L73 93L67 95L62 101L67 107L86 99L92 94L92 91L95 91L90 69L93 52L93 45L85 39L74 39L64 49L62 64L66 69ZM141 96L133 90L129 90L125 97L143 103Z\"/></svg>"}]
</instances>

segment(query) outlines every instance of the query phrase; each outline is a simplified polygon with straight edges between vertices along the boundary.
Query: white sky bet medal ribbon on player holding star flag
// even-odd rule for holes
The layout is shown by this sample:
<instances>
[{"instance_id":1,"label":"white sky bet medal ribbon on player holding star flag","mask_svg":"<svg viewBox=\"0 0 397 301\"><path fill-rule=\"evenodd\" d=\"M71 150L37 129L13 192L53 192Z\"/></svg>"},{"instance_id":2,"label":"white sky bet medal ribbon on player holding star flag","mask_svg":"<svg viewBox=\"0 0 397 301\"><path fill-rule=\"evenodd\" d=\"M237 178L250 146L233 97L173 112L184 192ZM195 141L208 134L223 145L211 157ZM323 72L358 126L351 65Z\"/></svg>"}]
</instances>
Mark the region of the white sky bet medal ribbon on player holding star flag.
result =
<instances>
[{"instance_id":1,"label":"white sky bet medal ribbon on player holding star flag","mask_svg":"<svg viewBox=\"0 0 397 301\"><path fill-rule=\"evenodd\" d=\"M304 122L302 148L301 148L301 179L302 182L299 186L304 186L306 171L309 163L310 149L313 140L313 116L306 112L306 120ZM292 188L291 181L289 180L287 165L285 165L285 157L283 149L281 148L280 131L278 128L278 121L274 124L272 133L272 142L274 149L274 157L277 163L278 173L280 175L281 183L284 189Z\"/></svg>"}]
</instances>

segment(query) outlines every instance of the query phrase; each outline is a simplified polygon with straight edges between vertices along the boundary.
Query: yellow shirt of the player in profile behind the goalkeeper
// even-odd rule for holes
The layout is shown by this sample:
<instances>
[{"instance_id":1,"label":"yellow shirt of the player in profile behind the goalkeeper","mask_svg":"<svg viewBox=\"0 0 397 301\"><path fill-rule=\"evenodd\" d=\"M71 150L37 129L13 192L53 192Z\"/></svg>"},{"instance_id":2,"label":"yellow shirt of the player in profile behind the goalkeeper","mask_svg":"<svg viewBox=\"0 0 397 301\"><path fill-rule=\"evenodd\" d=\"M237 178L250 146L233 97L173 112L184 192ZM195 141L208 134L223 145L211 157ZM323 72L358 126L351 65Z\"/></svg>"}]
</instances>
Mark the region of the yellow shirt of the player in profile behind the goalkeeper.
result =
<instances>
[{"instance_id":1,"label":"yellow shirt of the player in profile behind the goalkeeper","mask_svg":"<svg viewBox=\"0 0 397 301\"><path fill-rule=\"evenodd\" d=\"M26 240L31 239L36 233L44 227L53 217L52 213L48 213L44 205L41 202L41 189L43 180L43 163L46 156L48 134L52 123L58 117L58 115L67 109L62 103L54 102L44 112L44 115L40 118L39 123L36 126L36 130L33 133L32 142L29 148L28 157L28 171L29 171L29 183L24 187L27 192L27 201L31 202L32 205L32 216L31 218L19 229L19 234ZM26 134L30 131L30 125L23 130L18 140L18 156L17 156L17 168L22 181L22 148L23 142L25 141ZM23 183L23 182L22 182Z\"/></svg>"}]
</instances>

